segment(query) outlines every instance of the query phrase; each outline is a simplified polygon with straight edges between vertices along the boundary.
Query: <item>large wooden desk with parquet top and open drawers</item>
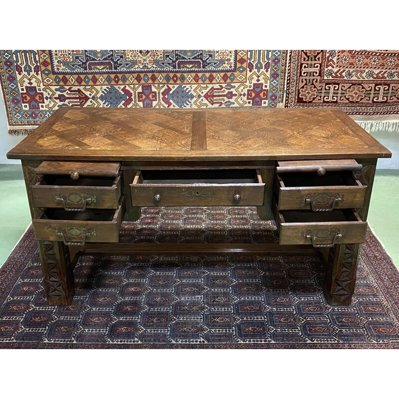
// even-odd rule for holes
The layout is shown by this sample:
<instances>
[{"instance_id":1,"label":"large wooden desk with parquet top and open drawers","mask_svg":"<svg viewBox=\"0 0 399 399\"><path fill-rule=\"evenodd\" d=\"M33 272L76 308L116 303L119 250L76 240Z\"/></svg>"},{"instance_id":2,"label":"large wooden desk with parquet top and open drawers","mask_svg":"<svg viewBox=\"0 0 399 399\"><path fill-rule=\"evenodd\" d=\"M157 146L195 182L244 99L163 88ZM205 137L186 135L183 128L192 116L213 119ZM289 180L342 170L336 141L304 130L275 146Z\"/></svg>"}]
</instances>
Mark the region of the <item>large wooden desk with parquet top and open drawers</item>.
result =
<instances>
[{"instance_id":1,"label":"large wooden desk with parquet top and open drawers","mask_svg":"<svg viewBox=\"0 0 399 399\"><path fill-rule=\"evenodd\" d=\"M21 159L50 305L74 295L81 253L302 252L348 305L377 158L391 153L338 109L60 108L13 148ZM140 206L254 205L280 245L122 244Z\"/></svg>"}]
</instances>

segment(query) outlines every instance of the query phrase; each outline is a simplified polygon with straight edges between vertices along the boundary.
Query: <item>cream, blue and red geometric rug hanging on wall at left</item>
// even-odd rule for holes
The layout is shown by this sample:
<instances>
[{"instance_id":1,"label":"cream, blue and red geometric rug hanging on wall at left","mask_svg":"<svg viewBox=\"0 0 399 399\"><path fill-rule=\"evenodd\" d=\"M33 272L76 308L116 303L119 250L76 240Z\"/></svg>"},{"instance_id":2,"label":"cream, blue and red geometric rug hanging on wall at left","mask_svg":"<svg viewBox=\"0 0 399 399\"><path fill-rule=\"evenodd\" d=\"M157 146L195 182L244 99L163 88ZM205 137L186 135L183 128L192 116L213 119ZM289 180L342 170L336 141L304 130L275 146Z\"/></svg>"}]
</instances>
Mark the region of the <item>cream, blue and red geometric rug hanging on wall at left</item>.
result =
<instances>
[{"instance_id":1,"label":"cream, blue and red geometric rug hanging on wall at left","mask_svg":"<svg viewBox=\"0 0 399 399\"><path fill-rule=\"evenodd\" d=\"M71 107L269 107L284 102L287 50L1 50L10 134Z\"/></svg>"}]
</instances>

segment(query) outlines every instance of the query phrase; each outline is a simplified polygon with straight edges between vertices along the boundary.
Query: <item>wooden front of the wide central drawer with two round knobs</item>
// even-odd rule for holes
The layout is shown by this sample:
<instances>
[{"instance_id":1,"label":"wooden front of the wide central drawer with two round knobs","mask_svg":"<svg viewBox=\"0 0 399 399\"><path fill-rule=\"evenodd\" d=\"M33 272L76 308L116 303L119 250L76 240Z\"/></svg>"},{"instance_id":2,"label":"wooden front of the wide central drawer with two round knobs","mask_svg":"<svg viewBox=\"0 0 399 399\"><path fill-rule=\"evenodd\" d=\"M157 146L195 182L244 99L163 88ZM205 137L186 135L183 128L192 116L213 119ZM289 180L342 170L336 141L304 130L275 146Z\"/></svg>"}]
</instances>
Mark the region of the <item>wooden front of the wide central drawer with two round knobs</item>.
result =
<instances>
[{"instance_id":1,"label":"wooden front of the wide central drawer with two round knobs","mask_svg":"<svg viewBox=\"0 0 399 399\"><path fill-rule=\"evenodd\" d=\"M146 184L138 172L130 187L133 206L262 205L264 197L260 175L255 183Z\"/></svg>"}]
</instances>

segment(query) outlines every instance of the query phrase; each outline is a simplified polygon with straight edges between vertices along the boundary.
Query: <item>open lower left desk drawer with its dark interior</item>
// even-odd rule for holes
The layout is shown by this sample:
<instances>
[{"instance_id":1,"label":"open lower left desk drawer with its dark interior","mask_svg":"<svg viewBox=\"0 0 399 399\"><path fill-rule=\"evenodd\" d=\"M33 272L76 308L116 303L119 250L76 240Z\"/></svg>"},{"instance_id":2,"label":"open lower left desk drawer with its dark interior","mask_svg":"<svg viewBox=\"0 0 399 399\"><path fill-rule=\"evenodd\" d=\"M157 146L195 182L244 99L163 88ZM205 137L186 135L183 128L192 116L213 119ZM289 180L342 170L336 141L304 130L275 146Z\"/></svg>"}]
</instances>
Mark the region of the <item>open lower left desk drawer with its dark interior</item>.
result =
<instances>
[{"instance_id":1,"label":"open lower left desk drawer with its dark interior","mask_svg":"<svg viewBox=\"0 0 399 399\"><path fill-rule=\"evenodd\" d=\"M46 208L39 218L32 220L32 225L37 240L64 241L67 245L118 242L124 214L125 198L122 196L116 210L86 209L84 212L68 212Z\"/></svg>"}]
</instances>

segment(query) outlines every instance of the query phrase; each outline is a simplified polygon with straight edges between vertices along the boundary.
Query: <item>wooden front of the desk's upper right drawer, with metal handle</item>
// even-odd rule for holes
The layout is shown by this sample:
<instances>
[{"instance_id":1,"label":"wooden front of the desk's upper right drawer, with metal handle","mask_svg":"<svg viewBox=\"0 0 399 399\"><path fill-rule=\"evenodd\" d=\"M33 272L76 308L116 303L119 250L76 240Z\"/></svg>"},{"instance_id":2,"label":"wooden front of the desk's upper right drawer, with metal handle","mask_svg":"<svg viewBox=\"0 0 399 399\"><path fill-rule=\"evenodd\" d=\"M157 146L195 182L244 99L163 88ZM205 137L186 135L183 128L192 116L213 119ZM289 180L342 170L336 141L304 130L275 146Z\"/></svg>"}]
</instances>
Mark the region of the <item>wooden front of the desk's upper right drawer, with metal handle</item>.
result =
<instances>
[{"instance_id":1,"label":"wooden front of the desk's upper right drawer, with metal handle","mask_svg":"<svg viewBox=\"0 0 399 399\"><path fill-rule=\"evenodd\" d=\"M285 175L275 177L275 193L278 198L278 209L309 209L313 211L331 211L333 209L361 208L367 187L363 186L353 175L347 185L301 187L298 175L298 187L286 187ZM326 181L328 184L328 180Z\"/></svg>"}]
</instances>

